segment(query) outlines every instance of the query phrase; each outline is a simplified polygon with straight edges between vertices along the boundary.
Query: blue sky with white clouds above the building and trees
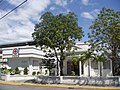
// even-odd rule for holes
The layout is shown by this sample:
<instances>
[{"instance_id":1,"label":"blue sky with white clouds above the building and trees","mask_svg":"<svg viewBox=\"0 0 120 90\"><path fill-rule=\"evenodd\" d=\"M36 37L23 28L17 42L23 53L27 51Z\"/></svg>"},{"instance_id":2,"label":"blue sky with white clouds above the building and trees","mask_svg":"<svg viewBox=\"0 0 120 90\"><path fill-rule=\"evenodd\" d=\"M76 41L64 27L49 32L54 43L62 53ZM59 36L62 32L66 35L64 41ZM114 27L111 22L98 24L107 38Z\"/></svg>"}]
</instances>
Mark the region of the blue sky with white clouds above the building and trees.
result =
<instances>
[{"instance_id":1,"label":"blue sky with white clouds above the building and trees","mask_svg":"<svg viewBox=\"0 0 120 90\"><path fill-rule=\"evenodd\" d=\"M0 18L23 1L25 0L0 0ZM85 35L80 42L87 41L89 27L103 7L120 11L120 0L27 0L0 19L0 45L31 41L34 26L45 12L54 15L74 12Z\"/></svg>"}]
</instances>

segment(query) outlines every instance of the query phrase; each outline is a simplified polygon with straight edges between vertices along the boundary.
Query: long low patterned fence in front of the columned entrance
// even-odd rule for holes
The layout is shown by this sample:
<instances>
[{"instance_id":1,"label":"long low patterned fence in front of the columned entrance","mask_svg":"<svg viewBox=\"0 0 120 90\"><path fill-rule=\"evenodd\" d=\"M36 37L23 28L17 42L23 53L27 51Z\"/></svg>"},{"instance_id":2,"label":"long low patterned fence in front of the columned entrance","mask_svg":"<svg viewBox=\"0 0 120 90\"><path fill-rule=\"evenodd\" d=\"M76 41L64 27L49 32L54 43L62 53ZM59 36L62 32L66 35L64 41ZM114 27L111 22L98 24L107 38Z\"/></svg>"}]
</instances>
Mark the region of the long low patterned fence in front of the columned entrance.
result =
<instances>
[{"instance_id":1,"label":"long low patterned fence in front of the columned entrance","mask_svg":"<svg viewBox=\"0 0 120 90\"><path fill-rule=\"evenodd\" d=\"M36 83L90 86L120 86L120 77L38 76Z\"/></svg>"}]
</instances>

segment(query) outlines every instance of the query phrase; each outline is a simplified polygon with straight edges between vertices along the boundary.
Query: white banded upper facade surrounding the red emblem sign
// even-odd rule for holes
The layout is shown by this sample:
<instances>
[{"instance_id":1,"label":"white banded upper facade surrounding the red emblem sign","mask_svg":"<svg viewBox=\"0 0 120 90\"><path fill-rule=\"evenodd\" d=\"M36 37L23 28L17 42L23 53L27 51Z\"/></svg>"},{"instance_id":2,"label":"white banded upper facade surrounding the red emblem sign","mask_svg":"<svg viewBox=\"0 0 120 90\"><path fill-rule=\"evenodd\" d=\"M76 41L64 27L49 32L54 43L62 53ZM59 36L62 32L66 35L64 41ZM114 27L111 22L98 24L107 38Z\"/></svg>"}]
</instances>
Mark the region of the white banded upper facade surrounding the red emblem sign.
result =
<instances>
[{"instance_id":1,"label":"white banded upper facade surrounding the red emblem sign","mask_svg":"<svg viewBox=\"0 0 120 90\"><path fill-rule=\"evenodd\" d=\"M15 56L13 50L17 48L18 54ZM12 57L35 57L35 58L43 58L45 53L36 48L35 46L20 46L20 47L9 47L3 48L3 56L2 58L12 58Z\"/></svg>"}]
</instances>

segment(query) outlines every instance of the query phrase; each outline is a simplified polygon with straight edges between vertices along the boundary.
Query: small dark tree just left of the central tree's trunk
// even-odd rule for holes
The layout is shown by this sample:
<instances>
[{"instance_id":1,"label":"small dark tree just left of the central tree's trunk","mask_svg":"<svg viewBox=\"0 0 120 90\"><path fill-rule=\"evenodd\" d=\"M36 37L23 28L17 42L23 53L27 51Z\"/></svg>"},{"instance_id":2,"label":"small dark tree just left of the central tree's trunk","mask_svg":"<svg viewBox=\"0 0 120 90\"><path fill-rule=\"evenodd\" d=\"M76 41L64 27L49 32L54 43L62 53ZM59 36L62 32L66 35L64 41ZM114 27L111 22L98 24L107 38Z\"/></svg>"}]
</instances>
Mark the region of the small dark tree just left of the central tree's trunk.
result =
<instances>
[{"instance_id":1,"label":"small dark tree just left of the central tree's trunk","mask_svg":"<svg viewBox=\"0 0 120 90\"><path fill-rule=\"evenodd\" d=\"M46 68L49 70L49 75L51 75L51 70L56 66L54 56L51 53L48 53L44 57L45 58L42 59L42 64L46 66Z\"/></svg>"}]
</instances>

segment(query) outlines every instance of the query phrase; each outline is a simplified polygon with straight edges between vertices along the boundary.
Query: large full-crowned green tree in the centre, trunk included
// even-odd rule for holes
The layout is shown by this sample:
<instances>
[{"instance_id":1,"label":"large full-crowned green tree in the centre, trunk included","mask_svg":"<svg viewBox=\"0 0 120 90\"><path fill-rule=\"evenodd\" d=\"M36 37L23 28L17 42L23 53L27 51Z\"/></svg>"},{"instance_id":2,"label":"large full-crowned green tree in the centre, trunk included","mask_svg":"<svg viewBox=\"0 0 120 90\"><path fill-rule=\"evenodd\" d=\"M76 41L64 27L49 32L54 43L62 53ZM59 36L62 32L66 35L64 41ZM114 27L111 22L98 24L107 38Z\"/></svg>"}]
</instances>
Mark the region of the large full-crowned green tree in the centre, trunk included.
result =
<instances>
[{"instance_id":1,"label":"large full-crowned green tree in the centre, trunk included","mask_svg":"<svg viewBox=\"0 0 120 90\"><path fill-rule=\"evenodd\" d=\"M35 25L33 40L36 46L50 48L54 51L57 61L60 63L60 74L63 75L63 61L67 51L70 52L76 40L83 37L82 28L77 23L77 16L69 12L66 15L53 15L46 12ZM59 53L57 53L59 51ZM58 63L57 63L58 66ZM58 67L57 67L58 68Z\"/></svg>"}]
</instances>

